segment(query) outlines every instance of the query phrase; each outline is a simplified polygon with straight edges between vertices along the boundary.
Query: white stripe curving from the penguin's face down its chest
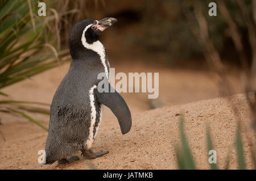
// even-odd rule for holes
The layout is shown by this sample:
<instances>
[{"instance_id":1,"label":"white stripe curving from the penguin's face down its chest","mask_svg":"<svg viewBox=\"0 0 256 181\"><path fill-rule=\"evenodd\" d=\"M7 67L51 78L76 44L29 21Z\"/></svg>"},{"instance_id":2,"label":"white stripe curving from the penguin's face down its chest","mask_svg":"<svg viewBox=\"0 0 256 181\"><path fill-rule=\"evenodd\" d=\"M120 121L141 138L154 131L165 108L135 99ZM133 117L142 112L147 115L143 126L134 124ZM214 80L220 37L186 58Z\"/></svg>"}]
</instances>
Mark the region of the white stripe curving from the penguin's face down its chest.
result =
<instances>
[{"instance_id":1,"label":"white stripe curving from the penguin's face down its chest","mask_svg":"<svg viewBox=\"0 0 256 181\"><path fill-rule=\"evenodd\" d=\"M88 28L90 28L91 26L93 26L93 24L89 24L88 26L86 26L84 28L84 31L82 32L82 45L84 45L85 48L91 49L94 52L98 53L98 55L101 58L101 63L104 66L104 70L106 73L106 77L109 77L109 72L108 72L108 68L106 66L106 57L105 57L105 48L102 45L102 43L100 41L94 41L92 44L87 43L86 39L85 39L85 32L86 30L88 30Z\"/></svg>"}]
</instances>

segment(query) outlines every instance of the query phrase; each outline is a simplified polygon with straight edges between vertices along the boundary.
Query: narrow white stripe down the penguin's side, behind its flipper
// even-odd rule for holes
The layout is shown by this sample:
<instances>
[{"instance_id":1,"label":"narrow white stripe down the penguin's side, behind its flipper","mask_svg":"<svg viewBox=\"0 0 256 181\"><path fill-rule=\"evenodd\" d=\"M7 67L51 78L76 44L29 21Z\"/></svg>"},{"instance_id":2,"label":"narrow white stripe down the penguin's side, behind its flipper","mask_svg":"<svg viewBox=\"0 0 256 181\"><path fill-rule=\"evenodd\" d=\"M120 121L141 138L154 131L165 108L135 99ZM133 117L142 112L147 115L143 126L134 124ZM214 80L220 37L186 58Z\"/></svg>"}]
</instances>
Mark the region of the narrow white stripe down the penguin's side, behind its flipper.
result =
<instances>
[{"instance_id":1,"label":"narrow white stripe down the penguin's side, behind its flipper","mask_svg":"<svg viewBox=\"0 0 256 181\"><path fill-rule=\"evenodd\" d=\"M102 119L102 112L103 112L103 105L101 104L100 113L96 112L96 106L95 106L95 100L94 100L94 89L97 89L97 86L94 85L89 90L89 98L90 98L90 107L91 107L91 113L90 113L90 128L89 128L89 135L88 139L85 141L85 146L87 149L90 149L93 145L93 142L97 136L98 129L100 128L101 119ZM99 116L99 122L96 124L97 116ZM93 135L94 127L96 128L96 132Z\"/></svg>"}]
</instances>

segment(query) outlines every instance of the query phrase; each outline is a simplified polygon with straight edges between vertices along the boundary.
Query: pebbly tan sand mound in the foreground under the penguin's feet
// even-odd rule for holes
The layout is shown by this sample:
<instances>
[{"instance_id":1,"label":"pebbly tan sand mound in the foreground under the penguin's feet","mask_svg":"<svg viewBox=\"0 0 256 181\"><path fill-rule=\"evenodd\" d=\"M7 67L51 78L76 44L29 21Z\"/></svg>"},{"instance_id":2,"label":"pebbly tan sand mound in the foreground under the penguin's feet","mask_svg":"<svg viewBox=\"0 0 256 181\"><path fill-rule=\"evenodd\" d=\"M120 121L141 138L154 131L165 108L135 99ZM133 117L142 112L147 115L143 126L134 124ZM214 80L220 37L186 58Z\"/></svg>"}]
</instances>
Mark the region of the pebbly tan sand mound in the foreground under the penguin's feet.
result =
<instances>
[{"instance_id":1,"label":"pebbly tan sand mound in the foreground under the penguin's feet","mask_svg":"<svg viewBox=\"0 0 256 181\"><path fill-rule=\"evenodd\" d=\"M247 168L252 169L249 138L255 142L256 134L250 127L249 107L241 94L232 96L232 102L240 107L246 163ZM93 150L109 150L109 154L89 162L76 161L61 166L42 165L37 161L38 150L44 149L46 143L47 133L43 129L27 121L3 124L0 127L6 141L0 138L0 169L90 169L93 166L98 169L177 169L175 146L180 144L180 112L185 115L185 130L197 168L209 169L205 138L208 123L218 165L224 168L230 153L230 169L237 169L236 120L225 98L133 114L133 127L125 135L121 134L115 118L104 119Z\"/></svg>"}]
</instances>

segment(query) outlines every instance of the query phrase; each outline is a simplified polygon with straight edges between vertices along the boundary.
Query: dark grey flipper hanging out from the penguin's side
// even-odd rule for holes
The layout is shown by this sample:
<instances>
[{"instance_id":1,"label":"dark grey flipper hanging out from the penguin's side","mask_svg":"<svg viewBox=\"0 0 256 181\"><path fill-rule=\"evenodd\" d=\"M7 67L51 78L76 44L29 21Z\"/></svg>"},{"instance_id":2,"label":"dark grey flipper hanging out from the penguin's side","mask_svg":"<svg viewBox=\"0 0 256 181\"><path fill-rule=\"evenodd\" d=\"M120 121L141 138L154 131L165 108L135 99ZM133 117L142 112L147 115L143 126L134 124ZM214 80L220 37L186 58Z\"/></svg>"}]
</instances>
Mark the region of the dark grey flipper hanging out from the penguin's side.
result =
<instances>
[{"instance_id":1,"label":"dark grey flipper hanging out from the penguin's side","mask_svg":"<svg viewBox=\"0 0 256 181\"><path fill-rule=\"evenodd\" d=\"M114 113L118 119L122 134L125 134L131 129L131 112L122 96L114 89L114 92L110 92L110 89L113 89L113 87L109 84L108 92L99 92L97 90L96 96L98 102L109 107Z\"/></svg>"}]
</instances>

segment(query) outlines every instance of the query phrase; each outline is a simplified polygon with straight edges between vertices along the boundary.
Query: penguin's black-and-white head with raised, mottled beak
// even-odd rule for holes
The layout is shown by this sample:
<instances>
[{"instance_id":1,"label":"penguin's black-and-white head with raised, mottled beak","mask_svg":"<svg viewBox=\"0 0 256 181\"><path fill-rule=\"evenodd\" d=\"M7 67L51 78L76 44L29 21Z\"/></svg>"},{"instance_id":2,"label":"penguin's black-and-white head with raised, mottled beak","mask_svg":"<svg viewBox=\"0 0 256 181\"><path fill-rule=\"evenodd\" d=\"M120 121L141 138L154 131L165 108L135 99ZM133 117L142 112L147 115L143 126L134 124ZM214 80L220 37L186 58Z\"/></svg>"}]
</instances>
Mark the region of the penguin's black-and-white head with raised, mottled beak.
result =
<instances>
[{"instance_id":1,"label":"penguin's black-and-white head with raised, mottled beak","mask_svg":"<svg viewBox=\"0 0 256 181\"><path fill-rule=\"evenodd\" d=\"M90 49L100 39L102 31L115 22L117 22L115 18L104 18L101 20L85 19L76 23L68 36L71 56L75 56L84 48Z\"/></svg>"}]
</instances>

